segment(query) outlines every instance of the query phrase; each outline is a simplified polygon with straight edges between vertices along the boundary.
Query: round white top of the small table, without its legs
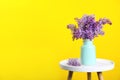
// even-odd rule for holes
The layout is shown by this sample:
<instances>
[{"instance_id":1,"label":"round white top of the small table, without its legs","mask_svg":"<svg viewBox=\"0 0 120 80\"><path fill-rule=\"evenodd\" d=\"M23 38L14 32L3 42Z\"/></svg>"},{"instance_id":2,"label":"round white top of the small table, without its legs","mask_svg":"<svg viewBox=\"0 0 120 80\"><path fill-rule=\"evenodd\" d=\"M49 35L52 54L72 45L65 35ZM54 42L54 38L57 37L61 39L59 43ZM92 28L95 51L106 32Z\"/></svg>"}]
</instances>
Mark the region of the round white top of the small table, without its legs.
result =
<instances>
[{"instance_id":1,"label":"round white top of the small table, without its legs","mask_svg":"<svg viewBox=\"0 0 120 80\"><path fill-rule=\"evenodd\" d=\"M60 62L60 67L65 70L76 71L76 72L101 72L101 71L112 70L114 68L113 61L107 59L100 59L100 58L96 59L96 64L93 66L85 66L85 65L72 66L72 65L68 65L67 63L68 63L68 59L62 60Z\"/></svg>"}]
</instances>

